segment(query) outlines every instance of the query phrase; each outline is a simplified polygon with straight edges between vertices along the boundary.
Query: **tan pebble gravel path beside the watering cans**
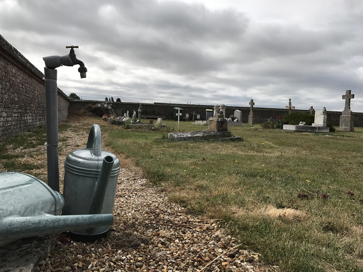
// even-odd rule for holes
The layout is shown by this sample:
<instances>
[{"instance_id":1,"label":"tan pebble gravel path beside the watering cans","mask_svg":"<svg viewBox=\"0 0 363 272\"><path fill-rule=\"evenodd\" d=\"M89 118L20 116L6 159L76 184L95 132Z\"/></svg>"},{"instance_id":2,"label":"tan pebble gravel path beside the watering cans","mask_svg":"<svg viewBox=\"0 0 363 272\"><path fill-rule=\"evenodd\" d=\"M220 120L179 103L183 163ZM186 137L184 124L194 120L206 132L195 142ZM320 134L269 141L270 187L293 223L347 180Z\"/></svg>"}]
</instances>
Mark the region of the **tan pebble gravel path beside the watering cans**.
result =
<instances>
[{"instance_id":1,"label":"tan pebble gravel path beside the watering cans","mask_svg":"<svg viewBox=\"0 0 363 272\"><path fill-rule=\"evenodd\" d=\"M72 139L69 144L72 149ZM257 253L239 250L236 246L237 241L219 222L188 214L180 205L168 202L167 193L148 184L141 173L122 168L109 236L82 243L64 234L56 235L49 257L39 262L36 271L265 272L278 269L269 270L258 261Z\"/></svg>"}]
</instances>

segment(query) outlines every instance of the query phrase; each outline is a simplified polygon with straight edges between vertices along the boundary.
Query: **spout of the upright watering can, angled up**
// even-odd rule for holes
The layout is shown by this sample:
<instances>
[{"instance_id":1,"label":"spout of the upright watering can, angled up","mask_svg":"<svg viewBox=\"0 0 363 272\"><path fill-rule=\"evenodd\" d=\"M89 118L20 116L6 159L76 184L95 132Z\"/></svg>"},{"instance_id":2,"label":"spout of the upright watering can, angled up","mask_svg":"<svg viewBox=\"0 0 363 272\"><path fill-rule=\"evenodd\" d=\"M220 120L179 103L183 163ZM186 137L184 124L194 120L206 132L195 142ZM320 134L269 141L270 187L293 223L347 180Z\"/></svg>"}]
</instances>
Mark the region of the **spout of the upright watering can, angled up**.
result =
<instances>
[{"instance_id":1,"label":"spout of the upright watering can, angled up","mask_svg":"<svg viewBox=\"0 0 363 272\"><path fill-rule=\"evenodd\" d=\"M101 213L113 164L113 157L106 156L105 158L103 158L101 173L99 174L99 177L94 186L93 197L88 210L88 214Z\"/></svg>"}]
</instances>

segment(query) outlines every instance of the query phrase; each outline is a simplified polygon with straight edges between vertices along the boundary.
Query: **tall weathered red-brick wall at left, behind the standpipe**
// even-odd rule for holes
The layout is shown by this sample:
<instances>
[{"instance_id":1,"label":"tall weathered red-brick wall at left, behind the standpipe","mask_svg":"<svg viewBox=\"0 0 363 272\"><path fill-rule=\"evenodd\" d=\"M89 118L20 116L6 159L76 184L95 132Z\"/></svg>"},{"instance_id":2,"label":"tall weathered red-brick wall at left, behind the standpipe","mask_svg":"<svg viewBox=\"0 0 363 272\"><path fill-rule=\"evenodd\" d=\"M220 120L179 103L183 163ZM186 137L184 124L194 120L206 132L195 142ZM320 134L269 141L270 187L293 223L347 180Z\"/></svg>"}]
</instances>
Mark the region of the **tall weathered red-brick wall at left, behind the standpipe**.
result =
<instances>
[{"instance_id":1,"label":"tall weathered red-brick wall at left, behind the standpipe","mask_svg":"<svg viewBox=\"0 0 363 272\"><path fill-rule=\"evenodd\" d=\"M0 35L0 140L45 125L43 73ZM58 120L70 100L58 88Z\"/></svg>"}]
</instances>

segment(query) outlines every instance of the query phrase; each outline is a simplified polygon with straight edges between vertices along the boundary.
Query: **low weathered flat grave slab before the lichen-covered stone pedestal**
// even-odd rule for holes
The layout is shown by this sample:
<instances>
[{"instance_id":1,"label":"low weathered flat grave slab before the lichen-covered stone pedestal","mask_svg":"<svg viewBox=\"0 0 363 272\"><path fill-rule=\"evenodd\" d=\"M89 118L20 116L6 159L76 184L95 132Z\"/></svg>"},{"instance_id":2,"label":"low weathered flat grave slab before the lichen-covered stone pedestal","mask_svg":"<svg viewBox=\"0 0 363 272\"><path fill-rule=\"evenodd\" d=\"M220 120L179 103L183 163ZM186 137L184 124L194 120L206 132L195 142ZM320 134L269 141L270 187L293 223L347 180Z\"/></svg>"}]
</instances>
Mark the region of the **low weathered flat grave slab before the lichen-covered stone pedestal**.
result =
<instances>
[{"instance_id":1,"label":"low weathered flat grave slab before the lichen-covered stone pedestal","mask_svg":"<svg viewBox=\"0 0 363 272\"><path fill-rule=\"evenodd\" d=\"M182 141L207 141L207 140L242 140L239 136L231 135L231 131L214 132L209 130L204 131L189 131L189 132L173 132L168 134L170 140L176 142Z\"/></svg>"}]
</instances>

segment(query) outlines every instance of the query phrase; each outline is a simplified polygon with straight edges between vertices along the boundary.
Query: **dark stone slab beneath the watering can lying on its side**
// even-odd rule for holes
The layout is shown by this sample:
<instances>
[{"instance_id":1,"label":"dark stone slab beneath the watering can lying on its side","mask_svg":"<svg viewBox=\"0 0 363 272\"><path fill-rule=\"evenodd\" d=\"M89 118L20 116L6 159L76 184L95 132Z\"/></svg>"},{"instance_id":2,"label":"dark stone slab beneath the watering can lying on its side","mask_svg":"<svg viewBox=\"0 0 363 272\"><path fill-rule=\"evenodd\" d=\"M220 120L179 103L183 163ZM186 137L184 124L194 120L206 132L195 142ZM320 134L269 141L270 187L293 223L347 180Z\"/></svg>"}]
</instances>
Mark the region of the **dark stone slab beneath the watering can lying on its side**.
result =
<instances>
[{"instance_id":1,"label":"dark stone slab beneath the watering can lying on its side","mask_svg":"<svg viewBox=\"0 0 363 272\"><path fill-rule=\"evenodd\" d=\"M52 235L30 237L0 247L0 272L33 272L39 260L45 259Z\"/></svg>"}]
</instances>

